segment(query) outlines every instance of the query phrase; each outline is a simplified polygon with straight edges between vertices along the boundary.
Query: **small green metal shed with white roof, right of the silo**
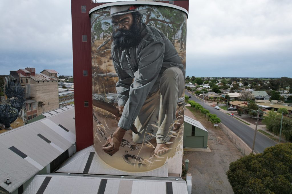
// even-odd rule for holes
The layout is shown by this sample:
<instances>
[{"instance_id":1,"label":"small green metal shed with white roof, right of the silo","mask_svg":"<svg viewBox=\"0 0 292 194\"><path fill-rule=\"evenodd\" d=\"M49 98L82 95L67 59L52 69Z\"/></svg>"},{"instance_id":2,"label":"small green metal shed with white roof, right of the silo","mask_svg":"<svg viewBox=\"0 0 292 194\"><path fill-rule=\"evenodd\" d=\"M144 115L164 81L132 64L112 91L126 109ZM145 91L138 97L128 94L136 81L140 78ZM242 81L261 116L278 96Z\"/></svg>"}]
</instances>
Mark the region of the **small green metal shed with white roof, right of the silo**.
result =
<instances>
[{"instance_id":1,"label":"small green metal shed with white roof, right of the silo","mask_svg":"<svg viewBox=\"0 0 292 194\"><path fill-rule=\"evenodd\" d=\"M197 120L184 117L183 147L207 148L208 131Z\"/></svg>"}]
</instances>

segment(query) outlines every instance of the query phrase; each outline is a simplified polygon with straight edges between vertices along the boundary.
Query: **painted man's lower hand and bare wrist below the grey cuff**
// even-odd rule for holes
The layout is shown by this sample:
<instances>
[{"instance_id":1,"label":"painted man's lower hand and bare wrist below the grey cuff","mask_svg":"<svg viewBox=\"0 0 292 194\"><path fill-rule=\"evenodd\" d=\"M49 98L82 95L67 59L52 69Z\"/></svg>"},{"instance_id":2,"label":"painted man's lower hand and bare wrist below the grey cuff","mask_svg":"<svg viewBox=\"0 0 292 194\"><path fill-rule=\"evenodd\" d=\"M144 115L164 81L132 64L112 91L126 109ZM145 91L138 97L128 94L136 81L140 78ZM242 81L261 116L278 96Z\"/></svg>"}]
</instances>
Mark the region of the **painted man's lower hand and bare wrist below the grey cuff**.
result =
<instances>
[{"instance_id":1,"label":"painted man's lower hand and bare wrist below the grey cuff","mask_svg":"<svg viewBox=\"0 0 292 194\"><path fill-rule=\"evenodd\" d=\"M116 131L107 138L107 141L102 146L103 151L111 156L119 151L125 133L125 129L118 127Z\"/></svg>"}]
</instances>

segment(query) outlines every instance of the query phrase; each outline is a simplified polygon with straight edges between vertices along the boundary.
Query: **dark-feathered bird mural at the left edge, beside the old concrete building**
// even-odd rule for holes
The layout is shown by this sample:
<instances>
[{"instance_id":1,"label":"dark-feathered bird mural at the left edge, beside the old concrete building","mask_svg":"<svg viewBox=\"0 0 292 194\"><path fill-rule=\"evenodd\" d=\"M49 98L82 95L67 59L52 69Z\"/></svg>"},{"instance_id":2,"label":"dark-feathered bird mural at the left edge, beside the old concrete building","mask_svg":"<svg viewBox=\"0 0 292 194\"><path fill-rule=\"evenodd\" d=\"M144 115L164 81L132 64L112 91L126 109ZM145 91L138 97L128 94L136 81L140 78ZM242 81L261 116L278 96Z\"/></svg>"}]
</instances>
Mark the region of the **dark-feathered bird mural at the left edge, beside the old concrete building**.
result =
<instances>
[{"instance_id":1,"label":"dark-feathered bird mural at the left edge, beside the old concrete building","mask_svg":"<svg viewBox=\"0 0 292 194\"><path fill-rule=\"evenodd\" d=\"M0 105L0 129L10 130L12 129L10 124L18 118L25 103L25 93L20 83L15 84L13 81L7 81L5 94L8 103Z\"/></svg>"}]
</instances>

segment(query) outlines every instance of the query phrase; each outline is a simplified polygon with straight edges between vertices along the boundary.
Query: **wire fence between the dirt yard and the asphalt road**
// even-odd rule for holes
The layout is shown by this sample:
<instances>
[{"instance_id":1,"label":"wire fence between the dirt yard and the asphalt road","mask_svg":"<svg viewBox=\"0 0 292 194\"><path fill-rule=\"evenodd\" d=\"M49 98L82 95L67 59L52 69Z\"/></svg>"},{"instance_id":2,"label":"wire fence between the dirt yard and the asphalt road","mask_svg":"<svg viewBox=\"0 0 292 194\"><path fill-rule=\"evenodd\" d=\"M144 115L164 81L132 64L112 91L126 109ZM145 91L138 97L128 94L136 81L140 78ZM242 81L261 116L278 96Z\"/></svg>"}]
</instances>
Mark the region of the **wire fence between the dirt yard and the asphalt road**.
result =
<instances>
[{"instance_id":1,"label":"wire fence between the dirt yard and the asphalt road","mask_svg":"<svg viewBox=\"0 0 292 194\"><path fill-rule=\"evenodd\" d=\"M248 147L239 137L237 137L228 127L224 124L219 123L220 129L227 135L234 146L241 152L242 155L246 156L251 153L251 148Z\"/></svg>"}]
</instances>

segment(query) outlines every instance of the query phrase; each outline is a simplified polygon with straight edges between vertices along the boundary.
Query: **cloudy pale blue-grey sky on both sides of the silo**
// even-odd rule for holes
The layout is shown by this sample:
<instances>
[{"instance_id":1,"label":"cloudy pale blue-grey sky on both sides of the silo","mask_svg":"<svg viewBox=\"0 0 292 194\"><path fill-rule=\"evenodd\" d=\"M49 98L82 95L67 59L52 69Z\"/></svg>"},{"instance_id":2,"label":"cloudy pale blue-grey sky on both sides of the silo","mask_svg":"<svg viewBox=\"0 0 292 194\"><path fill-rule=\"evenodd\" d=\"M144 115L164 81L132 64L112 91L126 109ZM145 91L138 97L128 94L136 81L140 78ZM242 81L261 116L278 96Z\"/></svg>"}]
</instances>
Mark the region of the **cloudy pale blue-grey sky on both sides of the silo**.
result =
<instances>
[{"instance_id":1,"label":"cloudy pale blue-grey sky on both sides of the silo","mask_svg":"<svg viewBox=\"0 0 292 194\"><path fill-rule=\"evenodd\" d=\"M291 0L190 0L187 75L292 77ZM0 1L0 74L73 75L70 0Z\"/></svg>"}]
</instances>

